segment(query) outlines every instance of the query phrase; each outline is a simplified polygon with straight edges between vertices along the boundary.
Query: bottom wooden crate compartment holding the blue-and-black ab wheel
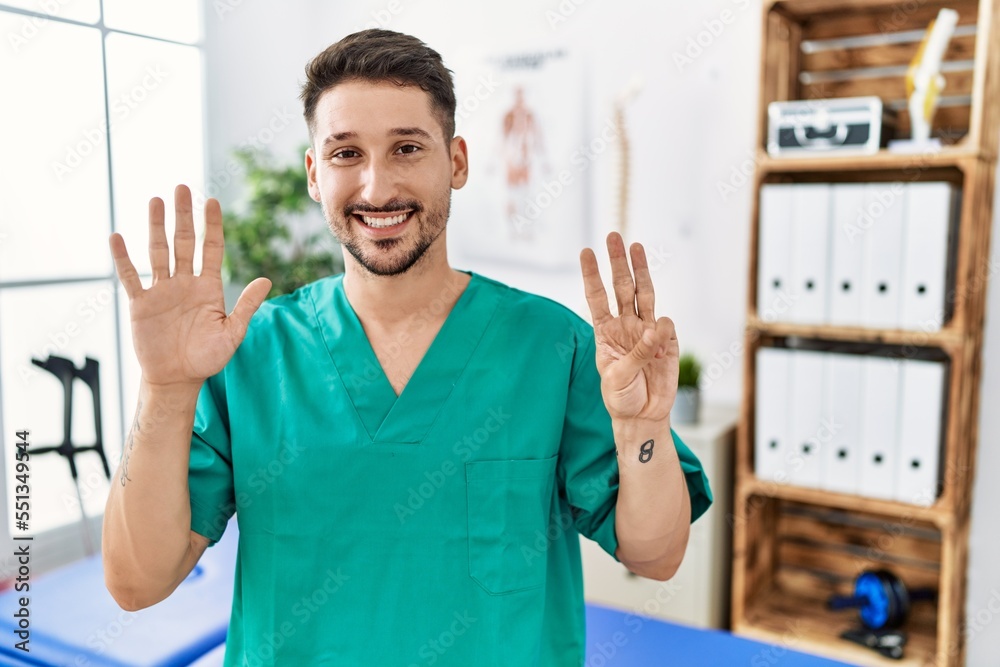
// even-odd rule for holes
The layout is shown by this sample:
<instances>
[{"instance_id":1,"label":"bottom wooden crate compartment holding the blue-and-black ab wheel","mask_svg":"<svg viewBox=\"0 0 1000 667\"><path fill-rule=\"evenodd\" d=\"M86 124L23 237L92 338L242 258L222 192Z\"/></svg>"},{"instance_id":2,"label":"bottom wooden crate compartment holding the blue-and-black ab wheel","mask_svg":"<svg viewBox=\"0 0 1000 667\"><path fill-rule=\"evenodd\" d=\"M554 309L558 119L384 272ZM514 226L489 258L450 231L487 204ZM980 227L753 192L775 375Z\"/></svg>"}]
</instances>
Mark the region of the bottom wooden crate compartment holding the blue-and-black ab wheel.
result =
<instances>
[{"instance_id":1,"label":"bottom wooden crate compartment holding the blue-and-black ab wheel","mask_svg":"<svg viewBox=\"0 0 1000 667\"><path fill-rule=\"evenodd\" d=\"M790 487L789 487L790 488ZM740 585L752 595L733 630L859 665L925 665L937 659L939 607L915 603L903 629L907 654L887 660L840 639L857 613L831 611L832 595L852 592L865 570L891 569L911 590L938 590L950 529L915 515L838 509L828 504L751 494L737 501L734 527L767 548L746 554ZM946 591L947 594L947 591ZM944 664L944 663L942 663Z\"/></svg>"}]
</instances>

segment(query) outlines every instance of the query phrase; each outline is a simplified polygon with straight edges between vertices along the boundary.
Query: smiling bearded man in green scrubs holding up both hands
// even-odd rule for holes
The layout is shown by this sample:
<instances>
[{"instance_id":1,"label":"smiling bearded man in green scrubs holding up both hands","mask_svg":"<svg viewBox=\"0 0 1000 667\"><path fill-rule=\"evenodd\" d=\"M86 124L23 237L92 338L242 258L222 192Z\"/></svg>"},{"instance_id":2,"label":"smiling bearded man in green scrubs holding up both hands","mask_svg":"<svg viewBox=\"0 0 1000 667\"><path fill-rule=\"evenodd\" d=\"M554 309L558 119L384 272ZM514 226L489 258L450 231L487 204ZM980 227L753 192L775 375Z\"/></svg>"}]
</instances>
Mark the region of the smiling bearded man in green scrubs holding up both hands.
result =
<instances>
[{"instance_id":1,"label":"smiling bearded man in green scrubs holding up both hands","mask_svg":"<svg viewBox=\"0 0 1000 667\"><path fill-rule=\"evenodd\" d=\"M609 237L619 317L582 254L596 335L451 269L468 161L438 54L365 31L307 74L309 191L343 276L263 305L258 278L227 317L219 205L194 276L185 187L174 275L160 200L149 289L111 237L143 375L105 515L108 588L126 609L163 599L235 512L226 665L578 666L578 534L664 580L711 502L670 429L677 341L643 251L633 279Z\"/></svg>"}]
</instances>

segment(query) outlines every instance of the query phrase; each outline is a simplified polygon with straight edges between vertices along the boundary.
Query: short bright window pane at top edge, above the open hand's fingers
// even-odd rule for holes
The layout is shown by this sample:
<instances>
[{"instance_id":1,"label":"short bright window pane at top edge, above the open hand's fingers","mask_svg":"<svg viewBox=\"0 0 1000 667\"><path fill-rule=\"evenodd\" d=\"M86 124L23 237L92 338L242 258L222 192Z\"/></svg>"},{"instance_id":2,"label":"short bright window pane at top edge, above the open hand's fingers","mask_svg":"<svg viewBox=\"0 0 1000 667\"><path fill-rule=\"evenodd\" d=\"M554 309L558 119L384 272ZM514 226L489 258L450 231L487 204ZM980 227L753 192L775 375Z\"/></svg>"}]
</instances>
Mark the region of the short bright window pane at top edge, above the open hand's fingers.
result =
<instances>
[{"instance_id":1,"label":"short bright window pane at top edge, above the open hand's fingers","mask_svg":"<svg viewBox=\"0 0 1000 667\"><path fill-rule=\"evenodd\" d=\"M141 35L197 42L201 39L198 0L104 0L104 25Z\"/></svg>"}]
</instances>

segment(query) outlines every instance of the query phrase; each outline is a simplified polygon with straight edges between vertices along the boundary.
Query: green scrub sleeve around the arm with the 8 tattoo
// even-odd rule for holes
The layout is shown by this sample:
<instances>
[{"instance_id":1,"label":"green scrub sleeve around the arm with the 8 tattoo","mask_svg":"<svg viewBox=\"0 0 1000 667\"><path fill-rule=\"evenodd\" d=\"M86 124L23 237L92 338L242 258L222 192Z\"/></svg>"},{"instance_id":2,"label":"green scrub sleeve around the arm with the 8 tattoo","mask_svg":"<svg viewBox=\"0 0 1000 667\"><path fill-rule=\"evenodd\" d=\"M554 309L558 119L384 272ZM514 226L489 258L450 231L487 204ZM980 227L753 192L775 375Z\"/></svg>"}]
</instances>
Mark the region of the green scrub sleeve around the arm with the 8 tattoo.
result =
<instances>
[{"instance_id":1,"label":"green scrub sleeve around the arm with the 8 tattoo","mask_svg":"<svg viewBox=\"0 0 1000 667\"><path fill-rule=\"evenodd\" d=\"M593 329L581 331L580 338L570 378L557 479L577 530L617 560L618 458L614 431L601 396ZM694 522L712 504L712 492L701 462L673 429L671 435L687 482Z\"/></svg>"}]
</instances>

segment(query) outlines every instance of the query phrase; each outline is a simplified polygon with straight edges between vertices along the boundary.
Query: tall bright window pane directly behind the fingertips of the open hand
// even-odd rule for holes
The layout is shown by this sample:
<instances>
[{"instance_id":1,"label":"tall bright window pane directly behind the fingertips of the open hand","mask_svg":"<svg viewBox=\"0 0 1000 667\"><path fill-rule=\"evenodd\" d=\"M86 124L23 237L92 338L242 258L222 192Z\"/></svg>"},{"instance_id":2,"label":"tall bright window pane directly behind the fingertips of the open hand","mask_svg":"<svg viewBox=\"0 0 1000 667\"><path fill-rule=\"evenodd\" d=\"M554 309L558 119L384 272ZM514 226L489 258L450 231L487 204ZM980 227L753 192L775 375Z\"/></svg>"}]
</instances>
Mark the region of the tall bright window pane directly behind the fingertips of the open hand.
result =
<instances>
[{"instance_id":1,"label":"tall bright window pane directly behind the fingertips of the open hand","mask_svg":"<svg viewBox=\"0 0 1000 667\"><path fill-rule=\"evenodd\" d=\"M187 184L195 195L199 238L204 229L201 54L191 46L120 34L108 35L107 54L115 221L136 268L149 273L151 197L166 204L167 237L172 239L174 187ZM196 271L200 258L199 241Z\"/></svg>"}]
</instances>

